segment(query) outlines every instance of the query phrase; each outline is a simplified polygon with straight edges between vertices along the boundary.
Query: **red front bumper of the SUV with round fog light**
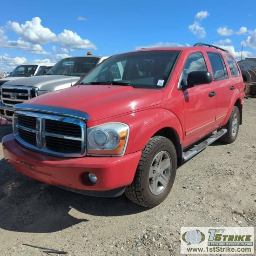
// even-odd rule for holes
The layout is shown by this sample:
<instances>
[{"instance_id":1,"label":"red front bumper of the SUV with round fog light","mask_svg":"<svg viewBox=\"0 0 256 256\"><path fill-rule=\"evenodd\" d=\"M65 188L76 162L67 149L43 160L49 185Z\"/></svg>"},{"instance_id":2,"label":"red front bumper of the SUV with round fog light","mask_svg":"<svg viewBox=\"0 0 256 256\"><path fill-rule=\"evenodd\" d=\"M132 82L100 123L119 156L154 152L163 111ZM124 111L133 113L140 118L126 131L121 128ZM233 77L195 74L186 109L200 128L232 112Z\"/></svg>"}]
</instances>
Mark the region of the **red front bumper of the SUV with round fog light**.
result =
<instances>
[{"instance_id":1,"label":"red front bumper of the SUV with round fog light","mask_svg":"<svg viewBox=\"0 0 256 256\"><path fill-rule=\"evenodd\" d=\"M94 196L117 196L132 183L141 151L121 157L61 158L22 147L13 134L2 140L6 161L35 180ZM97 176L93 184L88 172Z\"/></svg>"}]
</instances>

